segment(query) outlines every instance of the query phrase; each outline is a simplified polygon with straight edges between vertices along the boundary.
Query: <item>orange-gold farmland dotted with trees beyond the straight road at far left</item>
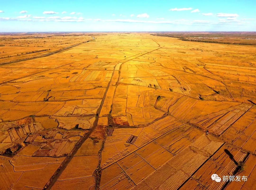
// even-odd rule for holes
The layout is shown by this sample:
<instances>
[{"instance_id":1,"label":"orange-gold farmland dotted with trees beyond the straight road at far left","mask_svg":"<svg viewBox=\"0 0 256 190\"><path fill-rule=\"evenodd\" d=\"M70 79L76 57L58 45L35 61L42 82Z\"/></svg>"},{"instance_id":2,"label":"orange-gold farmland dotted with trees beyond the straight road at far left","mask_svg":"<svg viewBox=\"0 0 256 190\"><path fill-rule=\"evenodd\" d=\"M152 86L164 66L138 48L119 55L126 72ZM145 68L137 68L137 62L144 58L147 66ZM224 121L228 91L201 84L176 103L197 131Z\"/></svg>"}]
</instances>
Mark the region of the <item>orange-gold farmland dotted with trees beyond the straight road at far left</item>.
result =
<instances>
[{"instance_id":1,"label":"orange-gold farmland dotted with trees beyond the straight road at far left","mask_svg":"<svg viewBox=\"0 0 256 190\"><path fill-rule=\"evenodd\" d=\"M58 51L91 38L87 33L0 34L0 64Z\"/></svg>"}]
</instances>

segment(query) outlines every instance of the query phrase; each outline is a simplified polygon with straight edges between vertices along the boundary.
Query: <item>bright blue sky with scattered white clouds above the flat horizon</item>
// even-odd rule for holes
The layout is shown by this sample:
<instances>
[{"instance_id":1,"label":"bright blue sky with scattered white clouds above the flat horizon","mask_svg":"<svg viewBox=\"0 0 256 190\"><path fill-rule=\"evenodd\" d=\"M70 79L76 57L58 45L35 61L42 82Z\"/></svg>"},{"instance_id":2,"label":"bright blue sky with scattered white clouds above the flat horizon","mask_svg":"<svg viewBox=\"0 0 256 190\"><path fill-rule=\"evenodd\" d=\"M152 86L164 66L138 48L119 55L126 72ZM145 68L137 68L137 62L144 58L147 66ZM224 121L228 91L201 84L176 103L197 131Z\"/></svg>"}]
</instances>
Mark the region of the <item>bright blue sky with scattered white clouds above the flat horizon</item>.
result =
<instances>
[{"instance_id":1,"label":"bright blue sky with scattered white clouds above the flat horizon","mask_svg":"<svg viewBox=\"0 0 256 190\"><path fill-rule=\"evenodd\" d=\"M256 31L255 7L255 0L0 0L0 32Z\"/></svg>"}]
</instances>

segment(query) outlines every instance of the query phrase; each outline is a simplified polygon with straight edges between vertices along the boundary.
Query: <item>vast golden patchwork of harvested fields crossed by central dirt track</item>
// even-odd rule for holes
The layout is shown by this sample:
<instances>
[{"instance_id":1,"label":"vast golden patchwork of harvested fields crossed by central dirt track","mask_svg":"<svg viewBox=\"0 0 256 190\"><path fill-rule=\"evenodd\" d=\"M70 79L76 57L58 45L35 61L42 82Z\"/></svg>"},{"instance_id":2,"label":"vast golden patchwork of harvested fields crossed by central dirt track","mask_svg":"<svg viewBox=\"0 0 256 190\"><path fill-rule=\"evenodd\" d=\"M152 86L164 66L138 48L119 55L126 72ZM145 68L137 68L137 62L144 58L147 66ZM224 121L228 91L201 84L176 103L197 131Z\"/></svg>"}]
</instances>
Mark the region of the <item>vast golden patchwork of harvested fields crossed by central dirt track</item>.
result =
<instances>
[{"instance_id":1,"label":"vast golden patchwork of harvested fields crossed by central dirt track","mask_svg":"<svg viewBox=\"0 0 256 190\"><path fill-rule=\"evenodd\" d=\"M256 188L255 47L93 37L0 65L1 189Z\"/></svg>"}]
</instances>

